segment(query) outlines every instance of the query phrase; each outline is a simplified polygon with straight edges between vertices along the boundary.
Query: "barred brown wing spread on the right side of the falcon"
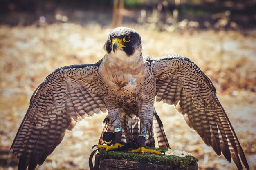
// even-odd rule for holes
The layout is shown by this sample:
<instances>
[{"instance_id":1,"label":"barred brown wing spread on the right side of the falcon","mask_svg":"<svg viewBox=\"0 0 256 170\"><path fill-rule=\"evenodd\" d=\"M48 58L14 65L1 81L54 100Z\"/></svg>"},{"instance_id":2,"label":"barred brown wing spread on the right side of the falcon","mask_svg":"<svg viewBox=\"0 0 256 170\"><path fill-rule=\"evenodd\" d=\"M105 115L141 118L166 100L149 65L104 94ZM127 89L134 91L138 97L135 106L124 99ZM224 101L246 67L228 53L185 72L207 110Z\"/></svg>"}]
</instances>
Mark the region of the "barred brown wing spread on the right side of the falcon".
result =
<instances>
[{"instance_id":1,"label":"barred brown wing spread on the right side of the falcon","mask_svg":"<svg viewBox=\"0 0 256 170\"><path fill-rule=\"evenodd\" d=\"M175 105L186 123L217 155L234 163L239 170L249 166L236 133L209 78L191 60L164 56L151 60L156 77L156 100Z\"/></svg>"}]
</instances>

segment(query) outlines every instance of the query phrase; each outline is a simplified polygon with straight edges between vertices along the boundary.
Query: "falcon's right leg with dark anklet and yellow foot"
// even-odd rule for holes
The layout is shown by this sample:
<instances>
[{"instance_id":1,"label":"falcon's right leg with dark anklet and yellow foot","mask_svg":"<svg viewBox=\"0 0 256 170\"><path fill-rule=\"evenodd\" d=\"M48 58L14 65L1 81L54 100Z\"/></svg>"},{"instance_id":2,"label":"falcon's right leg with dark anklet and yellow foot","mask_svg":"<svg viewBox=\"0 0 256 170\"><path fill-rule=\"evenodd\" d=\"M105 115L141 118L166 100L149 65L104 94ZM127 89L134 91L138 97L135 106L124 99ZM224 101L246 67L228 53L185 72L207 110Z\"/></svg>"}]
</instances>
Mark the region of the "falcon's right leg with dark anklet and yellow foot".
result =
<instances>
[{"instance_id":1,"label":"falcon's right leg with dark anklet and yellow foot","mask_svg":"<svg viewBox=\"0 0 256 170\"><path fill-rule=\"evenodd\" d=\"M155 153L161 155L161 152L153 149L146 149L146 141L147 139L147 132L151 132L153 128L153 106L151 104L143 104L141 110L138 114L140 119L140 135L135 139L132 139L132 148L129 153L140 153L144 154L145 152ZM149 139L152 141L152 139Z\"/></svg>"}]
</instances>

